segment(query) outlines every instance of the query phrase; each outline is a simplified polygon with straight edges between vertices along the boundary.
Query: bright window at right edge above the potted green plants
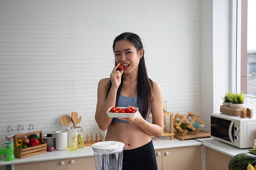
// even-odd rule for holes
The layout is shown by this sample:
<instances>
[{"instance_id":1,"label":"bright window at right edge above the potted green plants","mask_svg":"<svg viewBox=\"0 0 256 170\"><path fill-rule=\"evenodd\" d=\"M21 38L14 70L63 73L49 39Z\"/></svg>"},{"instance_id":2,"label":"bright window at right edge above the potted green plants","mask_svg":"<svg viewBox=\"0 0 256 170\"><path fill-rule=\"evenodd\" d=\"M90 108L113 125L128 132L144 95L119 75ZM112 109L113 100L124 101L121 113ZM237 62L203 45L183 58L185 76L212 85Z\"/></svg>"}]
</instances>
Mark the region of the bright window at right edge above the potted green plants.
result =
<instances>
[{"instance_id":1,"label":"bright window at right edge above the potted green plants","mask_svg":"<svg viewBox=\"0 0 256 170\"><path fill-rule=\"evenodd\" d=\"M238 0L238 4L239 4ZM256 108L256 1L241 1L241 91L247 94L246 107ZM238 13L239 15L239 10ZM238 23L239 26L239 23ZM239 64L239 60L238 64ZM239 81L237 81L239 83Z\"/></svg>"}]
</instances>

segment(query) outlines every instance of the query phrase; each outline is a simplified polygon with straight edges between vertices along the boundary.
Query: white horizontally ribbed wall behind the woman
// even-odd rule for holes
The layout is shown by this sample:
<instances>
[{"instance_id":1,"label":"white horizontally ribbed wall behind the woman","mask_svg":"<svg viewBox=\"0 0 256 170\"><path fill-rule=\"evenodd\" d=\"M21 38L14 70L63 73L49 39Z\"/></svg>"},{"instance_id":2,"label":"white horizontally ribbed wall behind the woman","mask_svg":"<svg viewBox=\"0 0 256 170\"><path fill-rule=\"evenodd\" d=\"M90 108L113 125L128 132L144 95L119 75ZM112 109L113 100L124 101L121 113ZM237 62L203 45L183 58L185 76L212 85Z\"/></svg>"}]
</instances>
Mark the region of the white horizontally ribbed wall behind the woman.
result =
<instances>
[{"instance_id":1,"label":"white horizontally ribbed wall behind the woman","mask_svg":"<svg viewBox=\"0 0 256 170\"><path fill-rule=\"evenodd\" d=\"M97 83L109 77L113 39L125 31L141 36L148 75L168 111L200 114L201 97L208 99L202 81L213 79L212 71L202 74L211 67L200 70L200 10L199 0L1 1L0 140L9 124L26 132L33 123L44 134L64 129L59 118L72 111L84 134L100 133Z\"/></svg>"}]
</instances>

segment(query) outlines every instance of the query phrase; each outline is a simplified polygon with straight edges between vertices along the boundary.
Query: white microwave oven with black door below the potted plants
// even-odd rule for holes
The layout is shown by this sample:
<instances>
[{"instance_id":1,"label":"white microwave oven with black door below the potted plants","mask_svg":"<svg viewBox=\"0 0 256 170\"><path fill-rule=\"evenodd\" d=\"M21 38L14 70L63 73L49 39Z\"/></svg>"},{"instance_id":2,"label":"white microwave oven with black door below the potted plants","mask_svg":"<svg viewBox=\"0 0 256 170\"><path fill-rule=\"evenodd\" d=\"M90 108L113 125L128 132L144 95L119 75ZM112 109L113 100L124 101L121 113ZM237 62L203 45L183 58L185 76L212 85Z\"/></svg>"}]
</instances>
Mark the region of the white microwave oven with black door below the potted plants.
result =
<instances>
[{"instance_id":1,"label":"white microwave oven with black door below the potted plants","mask_svg":"<svg viewBox=\"0 0 256 170\"><path fill-rule=\"evenodd\" d=\"M224 113L210 114L210 137L238 148L252 148L256 138L256 116L241 118Z\"/></svg>"}]
</instances>

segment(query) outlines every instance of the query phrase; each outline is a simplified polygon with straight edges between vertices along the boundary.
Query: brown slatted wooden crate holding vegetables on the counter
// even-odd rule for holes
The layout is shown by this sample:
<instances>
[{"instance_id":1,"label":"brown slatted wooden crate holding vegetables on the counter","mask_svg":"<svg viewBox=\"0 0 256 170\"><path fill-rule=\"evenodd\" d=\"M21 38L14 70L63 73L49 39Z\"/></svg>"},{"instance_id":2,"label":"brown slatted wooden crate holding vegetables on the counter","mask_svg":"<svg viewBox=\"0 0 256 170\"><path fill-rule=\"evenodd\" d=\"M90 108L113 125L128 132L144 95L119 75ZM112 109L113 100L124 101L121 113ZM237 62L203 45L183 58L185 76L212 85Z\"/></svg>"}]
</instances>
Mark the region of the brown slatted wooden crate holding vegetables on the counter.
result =
<instances>
[{"instance_id":1,"label":"brown slatted wooden crate holding vegetables on the counter","mask_svg":"<svg viewBox=\"0 0 256 170\"><path fill-rule=\"evenodd\" d=\"M22 136L30 136L32 134L38 134L39 133L39 141L41 144L36 145L34 147L28 147L28 148L23 148L20 149L17 147L17 137L22 137ZM30 132L30 133L23 133L19 135L14 136L14 156L16 158L26 158L29 156L45 153L47 150L47 143L44 142L42 139L42 131L36 131L36 132Z\"/></svg>"}]
</instances>

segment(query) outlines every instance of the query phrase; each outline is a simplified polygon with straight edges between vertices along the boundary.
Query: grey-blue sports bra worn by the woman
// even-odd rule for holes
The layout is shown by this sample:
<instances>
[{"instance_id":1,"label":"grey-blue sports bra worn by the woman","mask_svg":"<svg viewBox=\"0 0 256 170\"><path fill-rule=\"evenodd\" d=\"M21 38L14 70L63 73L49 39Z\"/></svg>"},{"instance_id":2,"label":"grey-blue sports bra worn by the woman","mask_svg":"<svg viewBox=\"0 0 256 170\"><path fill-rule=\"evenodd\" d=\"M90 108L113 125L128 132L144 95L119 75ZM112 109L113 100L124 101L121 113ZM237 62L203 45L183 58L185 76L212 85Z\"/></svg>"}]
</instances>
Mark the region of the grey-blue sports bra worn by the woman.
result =
<instances>
[{"instance_id":1,"label":"grey-blue sports bra worn by the woman","mask_svg":"<svg viewBox=\"0 0 256 170\"><path fill-rule=\"evenodd\" d=\"M134 106L137 107L137 96L134 97L126 97L123 96L122 94L119 95L119 99L117 101L117 107L128 107L128 106ZM140 111L140 110L139 110ZM146 122L148 122L148 117L150 115L150 112L147 113L146 115ZM113 118L114 122L117 123L125 123L125 124L130 124L126 120L120 120L118 118Z\"/></svg>"}]
</instances>

